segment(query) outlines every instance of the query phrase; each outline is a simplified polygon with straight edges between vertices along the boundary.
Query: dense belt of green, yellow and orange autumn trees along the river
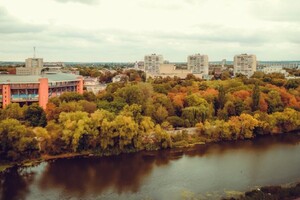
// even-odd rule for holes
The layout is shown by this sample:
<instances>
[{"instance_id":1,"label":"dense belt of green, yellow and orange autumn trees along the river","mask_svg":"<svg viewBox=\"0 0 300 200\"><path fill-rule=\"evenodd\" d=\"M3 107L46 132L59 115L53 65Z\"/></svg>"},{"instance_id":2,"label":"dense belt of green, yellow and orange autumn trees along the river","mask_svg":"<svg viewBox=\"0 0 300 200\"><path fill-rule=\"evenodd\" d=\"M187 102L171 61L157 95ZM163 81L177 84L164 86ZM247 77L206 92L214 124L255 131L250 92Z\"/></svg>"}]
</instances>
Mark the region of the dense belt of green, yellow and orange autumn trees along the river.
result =
<instances>
[{"instance_id":1,"label":"dense belt of green, yellow and orange autumn trees along the river","mask_svg":"<svg viewBox=\"0 0 300 200\"><path fill-rule=\"evenodd\" d=\"M1 160L109 155L300 128L300 79L256 72L251 78L224 74L204 81L188 75L146 81L143 72L125 73L127 80L110 83L97 95L64 93L51 98L45 110L14 103L1 109ZM186 131L189 127L194 132Z\"/></svg>"}]
</instances>

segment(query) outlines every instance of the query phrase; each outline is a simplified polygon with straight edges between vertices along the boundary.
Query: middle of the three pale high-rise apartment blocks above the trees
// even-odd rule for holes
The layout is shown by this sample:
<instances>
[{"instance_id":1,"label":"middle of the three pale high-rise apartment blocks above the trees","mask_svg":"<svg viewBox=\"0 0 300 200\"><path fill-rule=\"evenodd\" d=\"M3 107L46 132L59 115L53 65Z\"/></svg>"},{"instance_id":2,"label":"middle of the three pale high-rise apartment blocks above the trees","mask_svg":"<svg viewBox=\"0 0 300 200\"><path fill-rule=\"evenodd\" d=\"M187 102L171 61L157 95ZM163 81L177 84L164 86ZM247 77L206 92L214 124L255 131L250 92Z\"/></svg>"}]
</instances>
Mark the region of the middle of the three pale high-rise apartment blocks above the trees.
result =
<instances>
[{"instance_id":1,"label":"middle of the three pale high-rise apartment blocks above the trees","mask_svg":"<svg viewBox=\"0 0 300 200\"><path fill-rule=\"evenodd\" d=\"M195 74L208 75L208 56L195 54L187 57L188 70L192 70Z\"/></svg>"}]
</instances>

